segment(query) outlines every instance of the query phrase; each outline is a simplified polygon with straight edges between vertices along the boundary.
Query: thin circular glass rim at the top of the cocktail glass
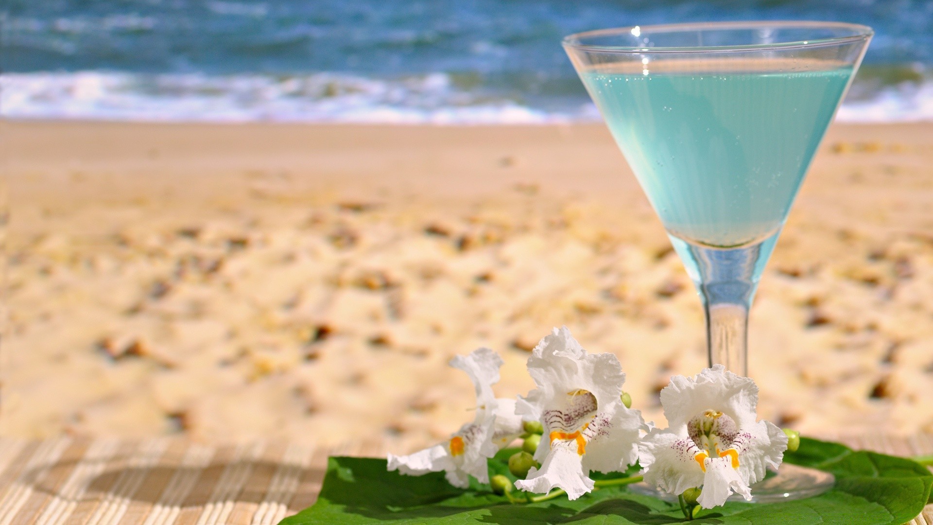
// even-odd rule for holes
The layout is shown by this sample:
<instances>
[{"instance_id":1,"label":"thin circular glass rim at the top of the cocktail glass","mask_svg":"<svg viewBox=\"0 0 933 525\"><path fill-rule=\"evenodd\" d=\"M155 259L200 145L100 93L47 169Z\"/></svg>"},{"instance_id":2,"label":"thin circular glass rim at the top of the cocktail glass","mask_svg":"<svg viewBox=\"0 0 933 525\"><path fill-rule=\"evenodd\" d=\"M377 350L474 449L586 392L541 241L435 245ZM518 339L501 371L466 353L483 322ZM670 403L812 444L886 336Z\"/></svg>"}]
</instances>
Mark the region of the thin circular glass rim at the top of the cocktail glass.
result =
<instances>
[{"instance_id":1,"label":"thin circular glass rim at the top of the cocktail glass","mask_svg":"<svg viewBox=\"0 0 933 525\"><path fill-rule=\"evenodd\" d=\"M771 44L739 44L734 46L606 46L584 44L581 39L604 35L641 35L650 33L685 33L689 31L721 31L736 29L849 29L852 35L831 36L814 40L794 40L776 42ZM636 32L638 35L636 35ZM874 31L867 25L849 23L844 21L705 21L686 23L666 23L657 25L629 25L608 29L594 29L564 36L562 44L565 48L581 51L596 51L608 53L699 53L699 52L730 52L730 51L759 51L759 50L792 50L802 48L817 48L835 46L849 42L865 40L874 35Z\"/></svg>"}]
</instances>

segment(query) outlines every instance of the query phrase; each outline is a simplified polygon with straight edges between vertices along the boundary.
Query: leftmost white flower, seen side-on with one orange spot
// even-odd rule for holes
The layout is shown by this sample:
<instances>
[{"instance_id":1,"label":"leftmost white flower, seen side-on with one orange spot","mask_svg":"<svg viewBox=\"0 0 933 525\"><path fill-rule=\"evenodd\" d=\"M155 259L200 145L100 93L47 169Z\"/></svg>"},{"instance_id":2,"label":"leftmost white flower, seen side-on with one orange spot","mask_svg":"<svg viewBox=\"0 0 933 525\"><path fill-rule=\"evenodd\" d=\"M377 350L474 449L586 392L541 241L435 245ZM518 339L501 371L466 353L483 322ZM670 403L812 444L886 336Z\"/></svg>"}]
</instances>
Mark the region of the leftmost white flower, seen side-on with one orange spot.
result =
<instances>
[{"instance_id":1,"label":"leftmost white flower, seen side-on with one orange spot","mask_svg":"<svg viewBox=\"0 0 933 525\"><path fill-rule=\"evenodd\" d=\"M522 418L515 415L514 400L494 397L493 384L499 380L502 359L493 350L479 348L466 357L456 356L451 366L466 372L473 381L476 418L444 443L408 456L389 454L388 470L405 475L445 471L451 485L466 489L470 475L482 483L489 482L486 459L522 433Z\"/></svg>"}]
</instances>

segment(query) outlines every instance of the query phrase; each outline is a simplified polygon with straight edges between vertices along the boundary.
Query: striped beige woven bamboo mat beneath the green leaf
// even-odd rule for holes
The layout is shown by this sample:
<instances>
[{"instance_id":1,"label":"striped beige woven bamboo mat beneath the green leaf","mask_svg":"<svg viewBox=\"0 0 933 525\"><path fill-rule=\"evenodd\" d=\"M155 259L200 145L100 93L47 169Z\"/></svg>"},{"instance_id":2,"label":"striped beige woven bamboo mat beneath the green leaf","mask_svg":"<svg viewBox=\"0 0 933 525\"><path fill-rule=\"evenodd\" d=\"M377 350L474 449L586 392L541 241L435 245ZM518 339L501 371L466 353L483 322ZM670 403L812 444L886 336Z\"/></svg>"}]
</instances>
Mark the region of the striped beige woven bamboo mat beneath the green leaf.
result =
<instances>
[{"instance_id":1,"label":"striped beige woven bamboo mat beneath the green leaf","mask_svg":"<svg viewBox=\"0 0 933 525\"><path fill-rule=\"evenodd\" d=\"M841 439L899 455L933 436ZM376 456L381 444L212 447L170 438L0 440L0 525L274 524L313 504L328 455ZM933 505L912 522L933 525Z\"/></svg>"}]
</instances>

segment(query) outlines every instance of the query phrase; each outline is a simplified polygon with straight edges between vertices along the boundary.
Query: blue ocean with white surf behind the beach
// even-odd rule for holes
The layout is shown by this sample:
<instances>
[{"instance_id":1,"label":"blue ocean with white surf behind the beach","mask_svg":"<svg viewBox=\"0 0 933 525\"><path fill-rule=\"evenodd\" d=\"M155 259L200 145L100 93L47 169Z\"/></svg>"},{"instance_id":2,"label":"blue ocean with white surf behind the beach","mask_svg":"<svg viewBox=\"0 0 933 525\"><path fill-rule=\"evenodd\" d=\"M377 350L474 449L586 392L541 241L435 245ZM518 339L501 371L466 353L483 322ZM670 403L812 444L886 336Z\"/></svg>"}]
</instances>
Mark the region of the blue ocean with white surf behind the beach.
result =
<instances>
[{"instance_id":1,"label":"blue ocean with white surf behind the beach","mask_svg":"<svg viewBox=\"0 0 933 525\"><path fill-rule=\"evenodd\" d=\"M564 35L829 20L876 35L840 121L933 121L933 0L7 0L11 119L598 121Z\"/></svg>"}]
</instances>

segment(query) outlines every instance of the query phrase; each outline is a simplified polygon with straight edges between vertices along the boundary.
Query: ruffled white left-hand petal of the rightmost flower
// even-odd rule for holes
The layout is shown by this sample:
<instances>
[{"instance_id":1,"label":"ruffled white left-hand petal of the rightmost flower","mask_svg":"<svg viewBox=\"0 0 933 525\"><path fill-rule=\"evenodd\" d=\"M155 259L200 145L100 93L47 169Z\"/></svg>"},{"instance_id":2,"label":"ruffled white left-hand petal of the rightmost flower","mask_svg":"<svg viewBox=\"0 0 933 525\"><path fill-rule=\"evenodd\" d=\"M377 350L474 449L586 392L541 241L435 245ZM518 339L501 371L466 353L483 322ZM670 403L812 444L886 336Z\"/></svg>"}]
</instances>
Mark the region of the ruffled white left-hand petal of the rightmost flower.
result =
<instances>
[{"instance_id":1,"label":"ruffled white left-hand petal of the rightmost flower","mask_svg":"<svg viewBox=\"0 0 933 525\"><path fill-rule=\"evenodd\" d=\"M670 429L653 429L638 444L639 464L645 482L669 494L703 485L703 469L694 456L700 452L686 435Z\"/></svg>"}]
</instances>

